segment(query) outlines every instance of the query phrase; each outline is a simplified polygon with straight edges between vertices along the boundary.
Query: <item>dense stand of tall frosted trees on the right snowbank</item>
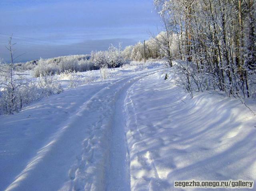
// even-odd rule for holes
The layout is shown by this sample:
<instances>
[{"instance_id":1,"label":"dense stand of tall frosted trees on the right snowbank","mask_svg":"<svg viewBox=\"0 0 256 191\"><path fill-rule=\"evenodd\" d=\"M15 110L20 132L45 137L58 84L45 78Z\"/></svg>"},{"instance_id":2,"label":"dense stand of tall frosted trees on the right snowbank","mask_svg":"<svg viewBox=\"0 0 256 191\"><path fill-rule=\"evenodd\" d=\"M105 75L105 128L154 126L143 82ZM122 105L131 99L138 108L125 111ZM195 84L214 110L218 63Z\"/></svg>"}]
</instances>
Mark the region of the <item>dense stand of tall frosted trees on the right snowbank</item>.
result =
<instances>
[{"instance_id":1,"label":"dense stand of tall frosted trees on the right snowbank","mask_svg":"<svg viewBox=\"0 0 256 191\"><path fill-rule=\"evenodd\" d=\"M255 96L256 2L253 0L154 0L176 43L187 83ZM164 35L162 35L164 36ZM204 83L202 83L204 82Z\"/></svg>"}]
</instances>

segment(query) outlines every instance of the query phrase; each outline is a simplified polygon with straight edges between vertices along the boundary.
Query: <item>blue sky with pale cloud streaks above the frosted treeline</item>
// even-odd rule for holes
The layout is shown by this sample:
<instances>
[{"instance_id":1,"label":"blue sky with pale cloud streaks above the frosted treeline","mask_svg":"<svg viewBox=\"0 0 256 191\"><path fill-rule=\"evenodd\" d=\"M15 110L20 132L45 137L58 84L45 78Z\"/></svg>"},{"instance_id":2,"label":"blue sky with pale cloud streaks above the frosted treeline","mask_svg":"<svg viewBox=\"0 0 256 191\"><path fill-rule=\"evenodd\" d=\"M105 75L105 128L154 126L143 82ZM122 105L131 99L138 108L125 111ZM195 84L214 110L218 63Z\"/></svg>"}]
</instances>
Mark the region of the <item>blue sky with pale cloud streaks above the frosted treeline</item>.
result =
<instances>
[{"instance_id":1,"label":"blue sky with pale cloud streaks above the frosted treeline","mask_svg":"<svg viewBox=\"0 0 256 191\"><path fill-rule=\"evenodd\" d=\"M1 0L0 57L11 33L18 62L131 45L160 25L153 0Z\"/></svg>"}]
</instances>

